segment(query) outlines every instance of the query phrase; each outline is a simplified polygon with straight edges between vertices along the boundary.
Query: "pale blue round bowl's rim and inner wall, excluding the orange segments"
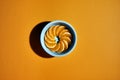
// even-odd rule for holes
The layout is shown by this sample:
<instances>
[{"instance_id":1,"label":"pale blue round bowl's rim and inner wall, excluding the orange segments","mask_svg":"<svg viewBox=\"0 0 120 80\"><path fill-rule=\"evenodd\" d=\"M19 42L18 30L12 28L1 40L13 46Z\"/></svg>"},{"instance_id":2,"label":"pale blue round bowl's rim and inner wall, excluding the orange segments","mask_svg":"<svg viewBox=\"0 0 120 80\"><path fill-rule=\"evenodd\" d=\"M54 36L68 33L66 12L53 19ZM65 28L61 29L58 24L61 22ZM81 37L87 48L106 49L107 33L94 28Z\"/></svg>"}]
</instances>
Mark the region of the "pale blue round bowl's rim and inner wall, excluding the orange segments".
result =
<instances>
[{"instance_id":1,"label":"pale blue round bowl's rim and inner wall, excluding the orange segments","mask_svg":"<svg viewBox=\"0 0 120 80\"><path fill-rule=\"evenodd\" d=\"M71 44L69 45L69 48L61 53L57 53L57 52L52 52L49 48L46 47L45 45L45 42L44 42L44 37L45 37L45 33L46 31L54 26L54 25L63 25L65 26L69 31L70 33L72 34L72 42ZM72 27L72 25L70 25L69 23L65 22L65 21L61 21L61 20L55 20L55 21L52 21L50 23L48 23L42 30L41 34L40 34L40 43L41 43L41 46L42 48L44 49L44 51L46 53L48 53L49 55L51 56L55 56L55 57L61 57L61 56L66 56L68 54L70 54L73 49L75 48L76 46L76 42L77 42L77 36L76 36L76 32L74 30L74 28Z\"/></svg>"}]
</instances>

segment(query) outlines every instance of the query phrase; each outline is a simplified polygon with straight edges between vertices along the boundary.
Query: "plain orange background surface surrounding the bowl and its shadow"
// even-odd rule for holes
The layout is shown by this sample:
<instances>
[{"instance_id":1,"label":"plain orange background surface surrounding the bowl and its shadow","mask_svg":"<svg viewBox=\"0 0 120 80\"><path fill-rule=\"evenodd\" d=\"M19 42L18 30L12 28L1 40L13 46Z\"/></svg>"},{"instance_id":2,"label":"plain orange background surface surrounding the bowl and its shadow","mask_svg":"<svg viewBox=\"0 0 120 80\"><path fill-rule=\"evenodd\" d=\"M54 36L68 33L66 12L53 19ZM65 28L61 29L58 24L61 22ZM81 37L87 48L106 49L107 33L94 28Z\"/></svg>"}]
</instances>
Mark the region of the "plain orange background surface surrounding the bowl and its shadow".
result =
<instances>
[{"instance_id":1,"label":"plain orange background surface surrounding the bowl and its shadow","mask_svg":"<svg viewBox=\"0 0 120 80\"><path fill-rule=\"evenodd\" d=\"M42 58L30 47L34 26L65 20L74 51ZM0 0L0 80L120 80L119 0Z\"/></svg>"}]
</instances>

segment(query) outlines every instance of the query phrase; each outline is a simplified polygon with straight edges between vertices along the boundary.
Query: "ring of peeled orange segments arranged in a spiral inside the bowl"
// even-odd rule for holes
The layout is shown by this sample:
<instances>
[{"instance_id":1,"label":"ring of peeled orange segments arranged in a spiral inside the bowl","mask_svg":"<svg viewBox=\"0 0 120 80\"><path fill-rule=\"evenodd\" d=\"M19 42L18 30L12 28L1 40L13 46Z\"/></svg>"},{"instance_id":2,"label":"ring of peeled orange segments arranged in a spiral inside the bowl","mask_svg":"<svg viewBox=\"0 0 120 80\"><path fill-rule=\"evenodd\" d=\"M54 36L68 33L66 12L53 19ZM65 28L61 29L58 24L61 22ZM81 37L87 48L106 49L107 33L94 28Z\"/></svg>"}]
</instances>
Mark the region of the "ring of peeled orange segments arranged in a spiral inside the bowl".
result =
<instances>
[{"instance_id":1,"label":"ring of peeled orange segments arranged in a spiral inside the bowl","mask_svg":"<svg viewBox=\"0 0 120 80\"><path fill-rule=\"evenodd\" d=\"M45 34L45 45L53 52L61 53L68 49L72 35L65 26L56 25Z\"/></svg>"}]
</instances>

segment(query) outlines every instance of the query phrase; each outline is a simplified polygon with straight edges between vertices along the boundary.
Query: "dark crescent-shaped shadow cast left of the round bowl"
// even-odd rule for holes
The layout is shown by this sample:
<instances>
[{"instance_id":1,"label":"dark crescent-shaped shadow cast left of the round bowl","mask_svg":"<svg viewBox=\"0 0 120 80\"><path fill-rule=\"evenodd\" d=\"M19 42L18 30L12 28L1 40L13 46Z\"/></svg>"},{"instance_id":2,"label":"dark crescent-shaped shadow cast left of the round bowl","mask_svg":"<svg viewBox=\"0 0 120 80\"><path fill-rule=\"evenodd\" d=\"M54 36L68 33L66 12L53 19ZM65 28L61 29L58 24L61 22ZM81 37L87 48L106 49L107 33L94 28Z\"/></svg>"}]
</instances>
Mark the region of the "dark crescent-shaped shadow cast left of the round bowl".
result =
<instances>
[{"instance_id":1,"label":"dark crescent-shaped shadow cast left of the round bowl","mask_svg":"<svg viewBox=\"0 0 120 80\"><path fill-rule=\"evenodd\" d=\"M42 32L42 29L47 25L50 21L44 21L39 24L37 24L31 31L30 37L29 37L29 42L32 50L39 55L40 57L43 58L53 58L53 56L47 54L44 49L41 46L40 43L40 34Z\"/></svg>"}]
</instances>

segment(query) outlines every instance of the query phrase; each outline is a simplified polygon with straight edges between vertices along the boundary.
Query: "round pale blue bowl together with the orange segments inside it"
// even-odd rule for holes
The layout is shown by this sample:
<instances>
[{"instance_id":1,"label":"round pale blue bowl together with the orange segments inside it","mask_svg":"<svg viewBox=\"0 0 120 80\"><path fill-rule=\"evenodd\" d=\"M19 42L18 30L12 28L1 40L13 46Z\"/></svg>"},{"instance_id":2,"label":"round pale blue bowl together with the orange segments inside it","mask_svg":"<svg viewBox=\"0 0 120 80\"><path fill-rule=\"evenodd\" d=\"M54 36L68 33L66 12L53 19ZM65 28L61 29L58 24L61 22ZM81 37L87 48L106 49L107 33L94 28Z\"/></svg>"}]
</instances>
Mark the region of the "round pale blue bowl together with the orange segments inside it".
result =
<instances>
[{"instance_id":1,"label":"round pale blue bowl together with the orange segments inside it","mask_svg":"<svg viewBox=\"0 0 120 80\"><path fill-rule=\"evenodd\" d=\"M40 44L51 56L68 55L75 48L76 42L77 36L73 26L61 20L49 22L40 34Z\"/></svg>"}]
</instances>

